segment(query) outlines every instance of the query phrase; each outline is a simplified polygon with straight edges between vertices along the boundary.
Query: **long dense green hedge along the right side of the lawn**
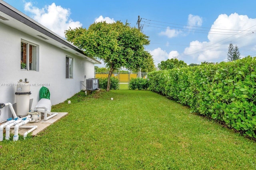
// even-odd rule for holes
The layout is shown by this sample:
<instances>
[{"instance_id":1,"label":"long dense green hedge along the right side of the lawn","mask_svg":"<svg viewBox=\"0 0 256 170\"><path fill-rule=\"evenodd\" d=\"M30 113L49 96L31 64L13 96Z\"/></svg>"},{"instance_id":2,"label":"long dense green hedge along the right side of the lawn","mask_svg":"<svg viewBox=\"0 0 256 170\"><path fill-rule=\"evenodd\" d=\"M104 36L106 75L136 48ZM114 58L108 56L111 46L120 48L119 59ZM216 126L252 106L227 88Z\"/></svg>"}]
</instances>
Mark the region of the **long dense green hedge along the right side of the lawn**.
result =
<instances>
[{"instance_id":1,"label":"long dense green hedge along the right side of the lawn","mask_svg":"<svg viewBox=\"0 0 256 170\"><path fill-rule=\"evenodd\" d=\"M256 59L148 74L149 89L256 138Z\"/></svg>"}]
</instances>

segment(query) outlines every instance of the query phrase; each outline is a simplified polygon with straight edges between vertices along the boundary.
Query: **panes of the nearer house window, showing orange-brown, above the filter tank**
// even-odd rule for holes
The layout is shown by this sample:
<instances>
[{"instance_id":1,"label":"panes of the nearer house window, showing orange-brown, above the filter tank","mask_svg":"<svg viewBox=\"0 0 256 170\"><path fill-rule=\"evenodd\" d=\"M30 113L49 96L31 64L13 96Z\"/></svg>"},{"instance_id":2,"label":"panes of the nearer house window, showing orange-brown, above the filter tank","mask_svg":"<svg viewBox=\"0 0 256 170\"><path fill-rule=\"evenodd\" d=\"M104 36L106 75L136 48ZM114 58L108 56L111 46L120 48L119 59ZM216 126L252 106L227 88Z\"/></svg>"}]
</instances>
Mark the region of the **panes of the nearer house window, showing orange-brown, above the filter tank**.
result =
<instances>
[{"instance_id":1,"label":"panes of the nearer house window, showing orange-brown, above the filter tank","mask_svg":"<svg viewBox=\"0 0 256 170\"><path fill-rule=\"evenodd\" d=\"M21 41L20 69L36 70L36 45Z\"/></svg>"}]
</instances>

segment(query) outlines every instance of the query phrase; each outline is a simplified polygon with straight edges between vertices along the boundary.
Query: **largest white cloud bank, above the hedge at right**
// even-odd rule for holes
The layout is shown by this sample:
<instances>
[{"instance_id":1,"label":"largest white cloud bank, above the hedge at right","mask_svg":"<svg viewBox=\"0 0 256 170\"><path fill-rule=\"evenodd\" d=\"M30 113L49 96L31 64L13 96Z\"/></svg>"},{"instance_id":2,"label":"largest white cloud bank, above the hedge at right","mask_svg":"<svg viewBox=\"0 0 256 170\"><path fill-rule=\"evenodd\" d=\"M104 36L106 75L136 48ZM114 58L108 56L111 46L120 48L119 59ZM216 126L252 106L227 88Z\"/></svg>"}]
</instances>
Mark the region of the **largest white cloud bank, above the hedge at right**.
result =
<instances>
[{"instance_id":1,"label":"largest white cloud bank, above the hedge at right","mask_svg":"<svg viewBox=\"0 0 256 170\"><path fill-rule=\"evenodd\" d=\"M246 55L245 53L252 50L252 48L248 50L246 47L255 45L256 36L255 33L252 33L254 30L256 30L256 18L248 18L246 15L237 13L230 14L230 16L221 14L209 31L208 41L190 42L190 46L181 55L182 59L185 62L189 61L188 63L225 61L230 42L238 46L241 56Z\"/></svg>"}]
</instances>

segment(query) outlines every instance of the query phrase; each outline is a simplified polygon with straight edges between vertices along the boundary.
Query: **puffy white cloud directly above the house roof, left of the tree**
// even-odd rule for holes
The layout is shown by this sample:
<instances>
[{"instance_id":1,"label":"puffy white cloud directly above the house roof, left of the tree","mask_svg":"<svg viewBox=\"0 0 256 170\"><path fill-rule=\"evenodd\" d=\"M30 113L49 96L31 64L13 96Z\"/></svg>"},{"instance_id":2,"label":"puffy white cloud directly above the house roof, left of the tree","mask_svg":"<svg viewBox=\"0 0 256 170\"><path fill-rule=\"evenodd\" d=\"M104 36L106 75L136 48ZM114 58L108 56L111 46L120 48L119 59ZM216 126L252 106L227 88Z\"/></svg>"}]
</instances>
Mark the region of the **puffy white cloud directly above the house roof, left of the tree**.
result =
<instances>
[{"instance_id":1,"label":"puffy white cloud directly above the house roof, left of the tree","mask_svg":"<svg viewBox=\"0 0 256 170\"><path fill-rule=\"evenodd\" d=\"M73 21L69 18L71 14L70 9L56 6L55 3L39 9L33 6L31 2L26 2L24 10L32 13L32 18L34 20L38 21L61 37L65 37L64 31L69 29L69 27L82 27L82 23L79 21Z\"/></svg>"}]
</instances>

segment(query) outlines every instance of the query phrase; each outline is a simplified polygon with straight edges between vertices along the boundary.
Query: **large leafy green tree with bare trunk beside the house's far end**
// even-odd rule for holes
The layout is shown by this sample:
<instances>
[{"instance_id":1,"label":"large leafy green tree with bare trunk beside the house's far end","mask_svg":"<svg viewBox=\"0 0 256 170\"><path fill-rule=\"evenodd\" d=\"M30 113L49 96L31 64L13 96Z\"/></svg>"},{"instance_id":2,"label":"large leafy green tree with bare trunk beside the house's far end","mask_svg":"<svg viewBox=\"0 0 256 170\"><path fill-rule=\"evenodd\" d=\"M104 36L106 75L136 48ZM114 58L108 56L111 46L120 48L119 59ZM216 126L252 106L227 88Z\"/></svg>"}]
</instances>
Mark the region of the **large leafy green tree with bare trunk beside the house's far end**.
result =
<instances>
[{"instance_id":1,"label":"large leafy green tree with bare trunk beside the house's far end","mask_svg":"<svg viewBox=\"0 0 256 170\"><path fill-rule=\"evenodd\" d=\"M98 22L86 28L65 31L68 41L84 49L86 55L102 59L109 69L107 91L110 90L110 77L114 70L124 67L138 69L152 57L145 51L149 45L148 36L128 23Z\"/></svg>"}]
</instances>

